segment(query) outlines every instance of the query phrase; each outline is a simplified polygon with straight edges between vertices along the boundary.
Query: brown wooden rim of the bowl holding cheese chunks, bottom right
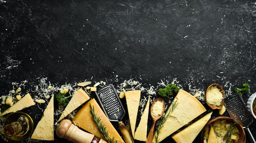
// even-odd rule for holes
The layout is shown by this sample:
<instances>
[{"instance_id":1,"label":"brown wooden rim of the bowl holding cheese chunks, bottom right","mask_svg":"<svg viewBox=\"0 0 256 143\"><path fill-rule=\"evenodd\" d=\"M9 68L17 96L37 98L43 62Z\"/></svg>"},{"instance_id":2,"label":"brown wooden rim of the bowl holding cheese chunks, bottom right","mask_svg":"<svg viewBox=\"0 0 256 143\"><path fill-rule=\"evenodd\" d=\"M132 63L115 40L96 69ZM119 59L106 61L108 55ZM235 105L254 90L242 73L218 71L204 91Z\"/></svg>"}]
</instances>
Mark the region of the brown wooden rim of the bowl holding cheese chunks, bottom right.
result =
<instances>
[{"instance_id":1,"label":"brown wooden rim of the bowl holding cheese chunks, bottom right","mask_svg":"<svg viewBox=\"0 0 256 143\"><path fill-rule=\"evenodd\" d=\"M201 131L201 143L204 143L204 132L206 130L207 127L209 127L211 124L213 124L215 121L218 121L218 120L227 120L227 121L230 121L231 123L234 123L236 122L236 120L230 118L230 117L217 117L217 118L214 118L214 119L211 119L210 121L207 122L207 124L204 126L204 128L202 129ZM238 143L245 143L245 130L243 129L243 127L238 123L236 124L236 127L238 128L239 130L239 139L238 139Z\"/></svg>"}]
</instances>

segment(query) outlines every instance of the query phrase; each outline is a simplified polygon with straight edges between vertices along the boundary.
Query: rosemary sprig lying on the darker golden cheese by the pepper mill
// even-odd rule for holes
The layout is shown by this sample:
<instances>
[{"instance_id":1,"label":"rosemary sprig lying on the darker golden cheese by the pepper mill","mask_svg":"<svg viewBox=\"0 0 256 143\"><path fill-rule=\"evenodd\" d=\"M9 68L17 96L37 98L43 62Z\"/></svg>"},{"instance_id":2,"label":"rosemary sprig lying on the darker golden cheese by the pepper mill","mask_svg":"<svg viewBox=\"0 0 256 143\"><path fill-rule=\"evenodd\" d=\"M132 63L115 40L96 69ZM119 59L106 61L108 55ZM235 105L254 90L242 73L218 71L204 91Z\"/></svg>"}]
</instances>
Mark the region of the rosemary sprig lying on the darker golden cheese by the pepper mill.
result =
<instances>
[{"instance_id":1,"label":"rosemary sprig lying on the darker golden cheese by the pepper mill","mask_svg":"<svg viewBox=\"0 0 256 143\"><path fill-rule=\"evenodd\" d=\"M102 125L100 123L101 119L97 117L97 115L94 113L94 106L90 104L90 108L91 108L90 111L92 113L92 118L94 119L95 123L97 124L97 127L101 131L102 133L101 135L108 141L108 143L117 143L117 141L114 140L114 137L112 139L108 137L108 131L106 131L105 124Z\"/></svg>"}]
</instances>

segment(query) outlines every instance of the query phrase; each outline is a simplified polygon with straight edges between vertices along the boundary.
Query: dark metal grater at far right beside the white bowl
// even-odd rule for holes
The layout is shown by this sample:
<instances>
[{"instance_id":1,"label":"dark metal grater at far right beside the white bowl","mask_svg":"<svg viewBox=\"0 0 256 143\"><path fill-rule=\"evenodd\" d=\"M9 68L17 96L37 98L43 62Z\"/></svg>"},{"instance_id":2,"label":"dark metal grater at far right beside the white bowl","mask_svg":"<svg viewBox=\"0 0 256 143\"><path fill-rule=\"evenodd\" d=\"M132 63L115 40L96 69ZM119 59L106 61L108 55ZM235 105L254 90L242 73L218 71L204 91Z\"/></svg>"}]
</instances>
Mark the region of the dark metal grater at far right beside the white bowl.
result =
<instances>
[{"instance_id":1,"label":"dark metal grater at far right beside the white bowl","mask_svg":"<svg viewBox=\"0 0 256 143\"><path fill-rule=\"evenodd\" d=\"M252 116L250 115L245 102L239 94L233 94L225 97L225 106L231 118L235 119L240 125L245 128L247 135L249 135L252 143L256 143L251 131L249 130L249 125L252 124Z\"/></svg>"}]
</instances>

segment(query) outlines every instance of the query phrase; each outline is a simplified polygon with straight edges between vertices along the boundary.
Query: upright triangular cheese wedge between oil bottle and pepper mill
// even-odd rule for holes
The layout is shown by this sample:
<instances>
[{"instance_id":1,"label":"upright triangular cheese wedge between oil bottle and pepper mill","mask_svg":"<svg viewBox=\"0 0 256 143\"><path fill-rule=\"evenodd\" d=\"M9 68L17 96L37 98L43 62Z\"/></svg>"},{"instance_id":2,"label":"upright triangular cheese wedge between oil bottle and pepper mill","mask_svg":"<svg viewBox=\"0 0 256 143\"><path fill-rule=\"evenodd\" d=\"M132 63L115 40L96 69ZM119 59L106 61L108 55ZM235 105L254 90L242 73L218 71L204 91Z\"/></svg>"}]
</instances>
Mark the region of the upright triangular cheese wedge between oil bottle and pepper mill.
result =
<instances>
[{"instance_id":1,"label":"upright triangular cheese wedge between oil bottle and pepper mill","mask_svg":"<svg viewBox=\"0 0 256 143\"><path fill-rule=\"evenodd\" d=\"M31 138L53 141L54 140L54 96L49 101L43 117L38 122Z\"/></svg>"}]
</instances>

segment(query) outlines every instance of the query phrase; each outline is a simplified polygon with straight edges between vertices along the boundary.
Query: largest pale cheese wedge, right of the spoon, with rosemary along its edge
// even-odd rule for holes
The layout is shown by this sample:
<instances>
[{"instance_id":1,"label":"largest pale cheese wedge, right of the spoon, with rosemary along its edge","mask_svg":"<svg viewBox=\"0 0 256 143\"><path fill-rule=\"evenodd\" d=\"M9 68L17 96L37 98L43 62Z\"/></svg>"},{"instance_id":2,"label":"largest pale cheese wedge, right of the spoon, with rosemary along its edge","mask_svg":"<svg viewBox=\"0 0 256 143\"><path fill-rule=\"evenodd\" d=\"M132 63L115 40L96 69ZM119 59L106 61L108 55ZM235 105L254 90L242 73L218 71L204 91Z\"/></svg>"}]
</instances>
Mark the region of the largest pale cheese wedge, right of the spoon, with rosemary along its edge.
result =
<instances>
[{"instance_id":1,"label":"largest pale cheese wedge, right of the spoon, with rosemary along its edge","mask_svg":"<svg viewBox=\"0 0 256 143\"><path fill-rule=\"evenodd\" d=\"M163 127L160 129L158 135L159 141L164 140L166 137L177 131L182 126L188 124L190 121L201 115L206 111L204 106L191 94L180 89L174 98L173 102L177 100L177 106L173 112L169 114ZM166 115L171 111L172 106L166 112ZM155 135L153 143L155 143Z\"/></svg>"}]
</instances>

